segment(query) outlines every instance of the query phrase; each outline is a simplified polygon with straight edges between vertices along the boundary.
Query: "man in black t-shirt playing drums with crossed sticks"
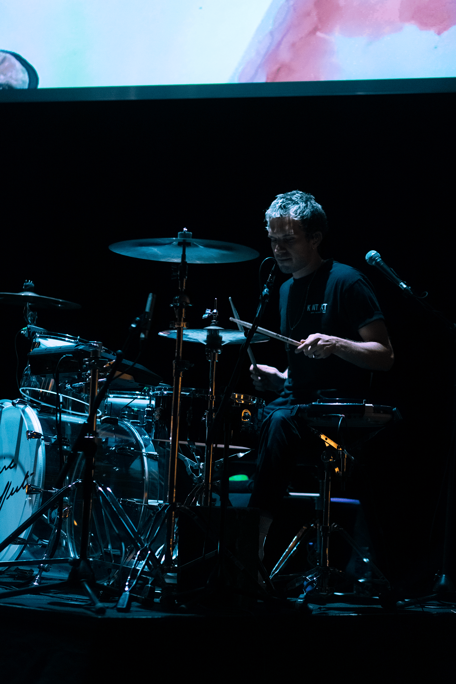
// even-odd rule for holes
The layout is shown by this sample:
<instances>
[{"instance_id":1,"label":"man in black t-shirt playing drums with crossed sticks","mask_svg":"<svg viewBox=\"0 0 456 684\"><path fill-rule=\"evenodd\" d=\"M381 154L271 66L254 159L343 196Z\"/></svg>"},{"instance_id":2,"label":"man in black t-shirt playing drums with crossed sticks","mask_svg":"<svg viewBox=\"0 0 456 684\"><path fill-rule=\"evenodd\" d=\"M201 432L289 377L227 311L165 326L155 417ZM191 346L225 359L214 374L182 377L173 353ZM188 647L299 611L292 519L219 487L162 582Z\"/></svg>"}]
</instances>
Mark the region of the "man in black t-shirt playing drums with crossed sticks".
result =
<instances>
[{"instance_id":1,"label":"man in black t-shirt playing drums with crossed sticks","mask_svg":"<svg viewBox=\"0 0 456 684\"><path fill-rule=\"evenodd\" d=\"M257 390L279 395L266 408L249 503L260 509L260 560L297 457L306 454L302 426L291 417L293 405L321 399L329 389L334 397L365 397L371 372L388 371L394 362L371 283L351 266L319 254L327 220L314 197L299 190L280 194L266 221L273 256L291 276L280 288L280 332L301 344L287 348L284 371L250 367Z\"/></svg>"}]
</instances>

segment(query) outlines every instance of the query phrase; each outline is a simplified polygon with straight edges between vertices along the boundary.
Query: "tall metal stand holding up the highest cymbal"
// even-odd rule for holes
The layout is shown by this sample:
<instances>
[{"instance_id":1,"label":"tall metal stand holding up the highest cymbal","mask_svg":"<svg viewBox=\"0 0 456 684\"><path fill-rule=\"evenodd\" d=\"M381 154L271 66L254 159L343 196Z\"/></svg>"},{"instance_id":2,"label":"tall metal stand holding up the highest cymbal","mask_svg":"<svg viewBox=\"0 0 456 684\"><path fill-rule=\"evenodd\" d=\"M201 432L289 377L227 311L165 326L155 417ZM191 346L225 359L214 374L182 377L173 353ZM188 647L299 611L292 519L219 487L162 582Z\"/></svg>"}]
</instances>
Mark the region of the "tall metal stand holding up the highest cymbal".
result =
<instances>
[{"instance_id":1,"label":"tall metal stand holding up the highest cymbal","mask_svg":"<svg viewBox=\"0 0 456 684\"><path fill-rule=\"evenodd\" d=\"M186 239L187 238L187 239ZM188 240L188 241L187 241ZM176 329L176 356L172 366L173 386L172 386L172 415L171 415L171 440L170 440L170 461L168 467L168 492L167 503L169 504L167 513L167 531L165 542L165 568L168 572L172 568L172 555L174 550L174 527L176 519L176 475L177 459L179 450L179 419L180 419L180 393L182 391L182 376L184 371L193 366L193 363L182 358L183 330L185 323L185 308L191 306L190 300L185 294L187 281L187 261L185 260L185 248L190 246L191 233L184 229L178 233L178 245L182 246L182 257L178 267L179 294L176 295L172 303L176 321L172 327Z\"/></svg>"}]
</instances>

